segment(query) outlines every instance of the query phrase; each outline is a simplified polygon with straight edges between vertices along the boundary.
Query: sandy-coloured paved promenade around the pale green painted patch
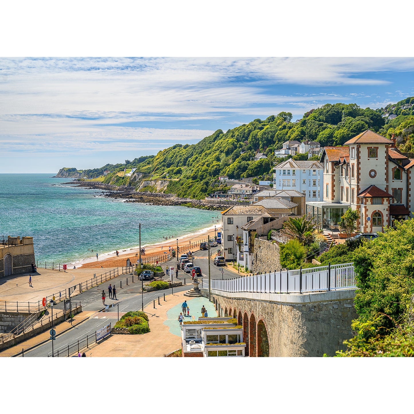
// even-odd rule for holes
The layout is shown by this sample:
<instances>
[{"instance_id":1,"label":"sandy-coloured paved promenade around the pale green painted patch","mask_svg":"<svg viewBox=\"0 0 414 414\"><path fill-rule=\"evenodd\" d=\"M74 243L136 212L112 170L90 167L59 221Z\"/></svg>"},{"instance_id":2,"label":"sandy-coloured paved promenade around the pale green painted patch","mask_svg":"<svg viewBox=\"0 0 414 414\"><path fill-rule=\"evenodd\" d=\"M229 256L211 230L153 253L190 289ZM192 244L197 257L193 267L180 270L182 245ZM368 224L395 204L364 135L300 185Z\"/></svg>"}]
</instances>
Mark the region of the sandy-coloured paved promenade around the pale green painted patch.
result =
<instances>
[{"instance_id":1,"label":"sandy-coloured paved promenade around the pale green painted patch","mask_svg":"<svg viewBox=\"0 0 414 414\"><path fill-rule=\"evenodd\" d=\"M156 309L153 308L152 304L144 308L144 311L149 313L149 328L151 332L144 335L111 335L106 341L92 348L88 353L91 356L164 356L164 354L181 348L181 336L171 333L170 328L165 324L168 320L167 313L175 306L180 308L181 303L185 300L191 304L191 301L194 299L184 296L184 292L166 295L165 298L166 302L161 300L161 305L158 305L156 302ZM202 304L205 306L209 303L207 298L197 299L204 300ZM195 306L196 309L197 306ZM209 315L216 316L217 313L214 312L212 314L209 312Z\"/></svg>"}]
</instances>

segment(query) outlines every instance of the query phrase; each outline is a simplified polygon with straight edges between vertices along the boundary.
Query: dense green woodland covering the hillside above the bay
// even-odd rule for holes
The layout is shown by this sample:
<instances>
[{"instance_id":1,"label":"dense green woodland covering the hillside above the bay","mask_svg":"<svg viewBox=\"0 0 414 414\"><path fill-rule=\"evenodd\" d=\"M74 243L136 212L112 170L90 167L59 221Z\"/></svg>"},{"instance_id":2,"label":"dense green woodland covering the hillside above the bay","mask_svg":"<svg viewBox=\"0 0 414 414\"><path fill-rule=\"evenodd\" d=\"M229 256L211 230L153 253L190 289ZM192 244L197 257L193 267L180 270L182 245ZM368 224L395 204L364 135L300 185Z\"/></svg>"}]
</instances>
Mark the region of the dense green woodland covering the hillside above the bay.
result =
<instances>
[{"instance_id":1,"label":"dense green woodland covering the hillside above the bay","mask_svg":"<svg viewBox=\"0 0 414 414\"><path fill-rule=\"evenodd\" d=\"M392 114L397 118L389 120ZM128 177L116 176L116 173L124 168L137 168L144 179L168 179L167 193L200 199L223 188L219 176L270 178L274 150L282 148L287 140L318 141L323 147L342 145L367 129L386 137L394 133L402 151L414 151L414 97L376 110L363 109L355 103L328 103L305 113L296 123L292 122L291 113L281 112L226 132L217 130L197 144L176 144L156 156L141 156L133 161L125 160L125 164L85 170L84 176L96 178L108 169L111 173L105 177L105 183L135 185L136 180L130 183ZM257 152L264 152L267 159L251 161ZM307 159L307 154L296 157Z\"/></svg>"}]
</instances>

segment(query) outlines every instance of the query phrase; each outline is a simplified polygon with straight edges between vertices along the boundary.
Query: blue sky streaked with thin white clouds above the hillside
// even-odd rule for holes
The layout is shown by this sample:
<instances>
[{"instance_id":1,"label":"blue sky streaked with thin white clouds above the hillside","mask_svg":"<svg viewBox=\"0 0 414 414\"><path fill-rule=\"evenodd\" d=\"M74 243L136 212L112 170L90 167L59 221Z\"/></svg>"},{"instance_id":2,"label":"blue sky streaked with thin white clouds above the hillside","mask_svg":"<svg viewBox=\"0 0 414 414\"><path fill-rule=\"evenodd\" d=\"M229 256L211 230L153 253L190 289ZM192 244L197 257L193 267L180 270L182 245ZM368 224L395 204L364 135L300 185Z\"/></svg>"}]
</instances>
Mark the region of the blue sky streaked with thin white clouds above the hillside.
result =
<instances>
[{"instance_id":1,"label":"blue sky streaked with thin white clouds above the hillside","mask_svg":"<svg viewBox=\"0 0 414 414\"><path fill-rule=\"evenodd\" d=\"M0 58L0 173L95 168L325 103L414 96L413 58Z\"/></svg>"}]
</instances>

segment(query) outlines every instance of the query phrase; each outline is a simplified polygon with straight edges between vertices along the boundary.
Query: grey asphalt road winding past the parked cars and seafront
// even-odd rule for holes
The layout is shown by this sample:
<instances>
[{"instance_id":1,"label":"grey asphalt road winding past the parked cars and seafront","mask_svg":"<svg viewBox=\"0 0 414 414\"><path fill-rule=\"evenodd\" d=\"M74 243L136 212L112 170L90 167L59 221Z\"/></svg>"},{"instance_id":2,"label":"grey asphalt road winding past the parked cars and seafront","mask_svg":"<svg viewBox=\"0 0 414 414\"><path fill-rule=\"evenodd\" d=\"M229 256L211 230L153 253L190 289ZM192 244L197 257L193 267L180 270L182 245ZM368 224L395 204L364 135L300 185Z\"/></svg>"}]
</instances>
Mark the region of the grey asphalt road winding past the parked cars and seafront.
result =
<instances>
[{"instance_id":1,"label":"grey asphalt road winding past the parked cars and seafront","mask_svg":"<svg viewBox=\"0 0 414 414\"><path fill-rule=\"evenodd\" d=\"M203 277L208 277L208 251L202 250L194 253L195 260L194 263L196 266L199 266L202 272ZM176 267L176 260L171 260L170 262L164 263L163 267L166 265L171 265ZM212 279L221 279L221 269L224 270L224 278L233 278L238 277L238 274L230 272L226 269L226 267L217 267L213 265L213 260L210 262L210 275ZM128 277L128 286L126 285L126 279ZM164 279L168 279L164 277ZM175 279L175 274L174 274ZM190 274L185 274L182 270L178 273L178 280L186 282L185 286L180 286L174 288L174 292L182 292L186 291L191 288L189 282L191 280ZM120 289L120 281L122 280L123 289ZM113 300L108 298L108 289L107 286L111 283L112 285L116 285L117 288L117 298L118 300ZM106 304L112 305L112 303L116 304L116 306L110 306L108 313L103 313L99 315L99 317L94 317L91 319L86 320L83 323L73 327L71 330L64 332L61 335L56 337L56 340L53 344L54 351L56 352L58 349L65 349L67 345L74 344L77 342L78 339L85 337L86 335L93 334L99 328L106 326L109 322L115 323L117 320L113 318L113 313L117 313L118 309L120 313L129 312L131 310L140 310L142 308L142 301L144 301L144 307L147 306L152 301L158 302L158 296L160 296L160 303L163 303L163 295L171 294L171 289L165 289L162 291L154 291L141 294L141 282L138 281L137 277L134 277L134 283L132 283L132 275L122 275L117 278L111 279L111 282L107 282L106 284L99 285L94 287L93 289L89 289L77 296L75 296L72 300L74 302L81 301L82 303L82 311L99 311L103 308L102 299L101 299L101 292L102 289L105 289L106 292ZM165 303L165 302L164 302ZM167 304L168 304L168 296L167 296ZM63 304L59 304L56 306L57 308L63 308ZM107 315L108 318L103 318L103 315ZM149 320L151 323L151 316L149 316ZM65 322L68 323L68 322ZM51 341L43 345L39 345L38 347L30 350L25 351L24 356L32 356L32 357L40 357L40 356L51 356L52 354L52 346ZM108 355L109 356L109 355Z\"/></svg>"}]
</instances>

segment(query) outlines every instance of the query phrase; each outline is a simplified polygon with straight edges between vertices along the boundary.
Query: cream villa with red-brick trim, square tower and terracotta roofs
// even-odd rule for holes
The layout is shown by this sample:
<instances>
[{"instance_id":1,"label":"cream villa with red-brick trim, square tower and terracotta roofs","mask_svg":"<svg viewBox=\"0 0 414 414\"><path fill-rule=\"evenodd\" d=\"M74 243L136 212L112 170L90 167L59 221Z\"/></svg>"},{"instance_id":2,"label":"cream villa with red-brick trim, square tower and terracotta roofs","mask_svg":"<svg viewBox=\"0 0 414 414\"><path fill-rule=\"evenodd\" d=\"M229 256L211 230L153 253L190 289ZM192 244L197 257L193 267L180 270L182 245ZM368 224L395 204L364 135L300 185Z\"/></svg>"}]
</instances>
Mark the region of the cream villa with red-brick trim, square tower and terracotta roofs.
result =
<instances>
[{"instance_id":1,"label":"cream villa with red-brick trim, square tower and terracotta roofs","mask_svg":"<svg viewBox=\"0 0 414 414\"><path fill-rule=\"evenodd\" d=\"M306 211L325 229L337 229L351 207L360 212L358 231L378 232L410 217L414 186L410 159L389 140L366 130L344 147L325 147L323 201L306 202Z\"/></svg>"}]
</instances>

